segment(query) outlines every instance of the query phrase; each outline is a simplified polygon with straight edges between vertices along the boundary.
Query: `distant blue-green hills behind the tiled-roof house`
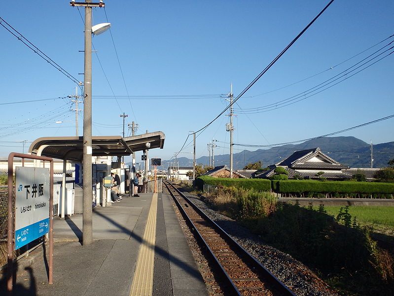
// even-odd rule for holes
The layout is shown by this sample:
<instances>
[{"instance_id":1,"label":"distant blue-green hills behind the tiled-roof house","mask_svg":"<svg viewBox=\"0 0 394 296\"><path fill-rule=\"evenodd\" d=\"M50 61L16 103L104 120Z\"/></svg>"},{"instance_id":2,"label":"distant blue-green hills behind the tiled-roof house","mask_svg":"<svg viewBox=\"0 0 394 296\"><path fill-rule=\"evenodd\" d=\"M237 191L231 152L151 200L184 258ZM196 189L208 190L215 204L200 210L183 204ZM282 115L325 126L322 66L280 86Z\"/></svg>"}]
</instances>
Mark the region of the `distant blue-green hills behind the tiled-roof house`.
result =
<instances>
[{"instance_id":1,"label":"distant blue-green hills behind the tiled-roof house","mask_svg":"<svg viewBox=\"0 0 394 296\"><path fill-rule=\"evenodd\" d=\"M351 168L371 167L371 146L355 137L323 137L296 145L284 145L271 149L256 151L244 150L233 155L234 169L243 169L245 165L261 161L263 167L277 164L286 159L294 151L320 147L322 152L335 161ZM229 155L215 155L215 166L229 166ZM394 142L373 145L373 167L387 167L390 159L394 158ZM168 161L164 161L167 163ZM191 159L181 157L177 159L180 167L193 166ZM196 159L197 164L208 165L207 156Z\"/></svg>"}]
</instances>

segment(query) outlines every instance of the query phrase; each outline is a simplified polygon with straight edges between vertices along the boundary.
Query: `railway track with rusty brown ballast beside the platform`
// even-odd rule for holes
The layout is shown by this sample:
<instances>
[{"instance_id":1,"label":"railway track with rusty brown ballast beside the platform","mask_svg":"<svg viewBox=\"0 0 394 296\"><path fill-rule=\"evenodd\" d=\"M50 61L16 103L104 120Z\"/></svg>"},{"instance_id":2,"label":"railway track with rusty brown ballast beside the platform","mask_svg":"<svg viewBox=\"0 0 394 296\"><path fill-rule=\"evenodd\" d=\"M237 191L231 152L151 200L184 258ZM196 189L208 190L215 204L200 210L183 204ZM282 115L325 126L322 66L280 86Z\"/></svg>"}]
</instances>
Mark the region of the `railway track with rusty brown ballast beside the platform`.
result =
<instances>
[{"instance_id":1,"label":"railway track with rusty brown ballast beside the platform","mask_svg":"<svg viewBox=\"0 0 394 296\"><path fill-rule=\"evenodd\" d=\"M173 184L165 181L179 211L204 245L221 274L222 291L229 295L292 295L278 278L235 242Z\"/></svg>"}]
</instances>

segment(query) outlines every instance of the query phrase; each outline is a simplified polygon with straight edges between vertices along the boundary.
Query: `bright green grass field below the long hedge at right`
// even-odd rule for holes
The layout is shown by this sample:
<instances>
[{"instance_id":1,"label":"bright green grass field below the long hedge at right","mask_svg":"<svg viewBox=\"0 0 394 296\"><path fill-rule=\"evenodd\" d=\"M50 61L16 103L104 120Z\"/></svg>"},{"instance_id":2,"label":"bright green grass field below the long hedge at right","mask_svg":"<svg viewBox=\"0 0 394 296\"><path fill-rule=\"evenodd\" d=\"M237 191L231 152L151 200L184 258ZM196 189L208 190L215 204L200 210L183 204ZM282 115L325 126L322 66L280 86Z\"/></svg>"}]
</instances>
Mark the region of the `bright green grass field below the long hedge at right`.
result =
<instances>
[{"instance_id":1,"label":"bright green grass field below the long hedge at right","mask_svg":"<svg viewBox=\"0 0 394 296\"><path fill-rule=\"evenodd\" d=\"M341 207L325 206L324 209L329 215L336 217ZM394 207L349 207L349 213L352 215L352 219L356 217L357 222L361 225L372 226L377 232L394 235Z\"/></svg>"}]
</instances>

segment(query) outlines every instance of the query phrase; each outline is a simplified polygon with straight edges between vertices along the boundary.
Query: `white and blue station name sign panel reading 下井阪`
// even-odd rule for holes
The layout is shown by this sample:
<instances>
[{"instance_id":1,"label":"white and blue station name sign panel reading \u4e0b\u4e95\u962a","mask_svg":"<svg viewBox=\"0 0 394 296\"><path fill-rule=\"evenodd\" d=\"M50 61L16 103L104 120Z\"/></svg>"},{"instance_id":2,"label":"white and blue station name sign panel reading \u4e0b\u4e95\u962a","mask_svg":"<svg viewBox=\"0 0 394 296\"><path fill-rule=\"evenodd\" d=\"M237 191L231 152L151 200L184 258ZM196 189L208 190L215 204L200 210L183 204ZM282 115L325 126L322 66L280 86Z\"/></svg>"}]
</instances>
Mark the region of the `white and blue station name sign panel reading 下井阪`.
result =
<instances>
[{"instance_id":1,"label":"white and blue station name sign panel reading \u4e0b\u4e95\u962a","mask_svg":"<svg viewBox=\"0 0 394 296\"><path fill-rule=\"evenodd\" d=\"M49 232L49 169L15 168L15 250Z\"/></svg>"}]
</instances>

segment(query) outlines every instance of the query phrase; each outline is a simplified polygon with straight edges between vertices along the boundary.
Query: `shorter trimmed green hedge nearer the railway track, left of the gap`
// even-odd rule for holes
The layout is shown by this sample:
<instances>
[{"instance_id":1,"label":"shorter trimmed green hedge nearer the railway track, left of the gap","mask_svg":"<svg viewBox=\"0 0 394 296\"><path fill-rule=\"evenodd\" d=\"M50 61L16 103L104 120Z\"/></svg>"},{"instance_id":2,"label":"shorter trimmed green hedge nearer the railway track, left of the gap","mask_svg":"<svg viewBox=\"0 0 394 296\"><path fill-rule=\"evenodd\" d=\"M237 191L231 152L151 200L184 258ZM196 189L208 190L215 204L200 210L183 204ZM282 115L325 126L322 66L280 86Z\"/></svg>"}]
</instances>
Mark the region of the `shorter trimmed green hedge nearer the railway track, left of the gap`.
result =
<instances>
[{"instance_id":1,"label":"shorter trimmed green hedge nearer the railway track, left of the gap","mask_svg":"<svg viewBox=\"0 0 394 296\"><path fill-rule=\"evenodd\" d=\"M212 186L234 186L244 189L255 189L258 191L271 191L271 181L267 179L230 179L230 178L213 178L210 176L200 176L197 178L198 187L202 188L204 184Z\"/></svg>"}]
</instances>

